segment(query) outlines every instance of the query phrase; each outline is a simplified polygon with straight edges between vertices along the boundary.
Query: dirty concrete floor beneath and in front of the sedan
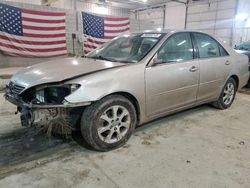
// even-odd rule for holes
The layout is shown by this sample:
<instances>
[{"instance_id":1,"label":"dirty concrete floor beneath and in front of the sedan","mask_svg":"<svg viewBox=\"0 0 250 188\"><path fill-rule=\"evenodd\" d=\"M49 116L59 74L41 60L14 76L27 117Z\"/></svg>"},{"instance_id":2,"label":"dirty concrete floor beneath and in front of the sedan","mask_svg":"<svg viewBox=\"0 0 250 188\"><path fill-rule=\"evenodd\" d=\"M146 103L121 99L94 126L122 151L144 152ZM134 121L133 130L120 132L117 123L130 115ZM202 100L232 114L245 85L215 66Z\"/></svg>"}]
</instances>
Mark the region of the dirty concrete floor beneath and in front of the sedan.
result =
<instances>
[{"instance_id":1,"label":"dirty concrete floor beneath and in front of the sedan","mask_svg":"<svg viewBox=\"0 0 250 188\"><path fill-rule=\"evenodd\" d=\"M22 128L2 94L0 107L0 187L250 187L248 94L225 111L204 105L146 124L107 153L77 133L48 139Z\"/></svg>"}]
</instances>

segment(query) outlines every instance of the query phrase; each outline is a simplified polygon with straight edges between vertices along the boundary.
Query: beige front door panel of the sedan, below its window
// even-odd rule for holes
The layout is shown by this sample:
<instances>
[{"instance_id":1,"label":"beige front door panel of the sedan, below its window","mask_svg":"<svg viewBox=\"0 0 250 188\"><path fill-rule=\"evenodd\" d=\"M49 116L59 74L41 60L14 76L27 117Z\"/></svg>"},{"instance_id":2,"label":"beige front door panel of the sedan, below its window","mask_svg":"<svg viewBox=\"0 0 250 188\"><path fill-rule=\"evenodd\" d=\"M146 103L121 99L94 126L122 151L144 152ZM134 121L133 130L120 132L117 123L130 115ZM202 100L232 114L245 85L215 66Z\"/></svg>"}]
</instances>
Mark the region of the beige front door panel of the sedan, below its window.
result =
<instances>
[{"instance_id":1,"label":"beige front door panel of the sedan, below its window","mask_svg":"<svg viewBox=\"0 0 250 188\"><path fill-rule=\"evenodd\" d=\"M147 67L145 72L147 115L154 116L196 102L199 70L198 60Z\"/></svg>"}]
</instances>

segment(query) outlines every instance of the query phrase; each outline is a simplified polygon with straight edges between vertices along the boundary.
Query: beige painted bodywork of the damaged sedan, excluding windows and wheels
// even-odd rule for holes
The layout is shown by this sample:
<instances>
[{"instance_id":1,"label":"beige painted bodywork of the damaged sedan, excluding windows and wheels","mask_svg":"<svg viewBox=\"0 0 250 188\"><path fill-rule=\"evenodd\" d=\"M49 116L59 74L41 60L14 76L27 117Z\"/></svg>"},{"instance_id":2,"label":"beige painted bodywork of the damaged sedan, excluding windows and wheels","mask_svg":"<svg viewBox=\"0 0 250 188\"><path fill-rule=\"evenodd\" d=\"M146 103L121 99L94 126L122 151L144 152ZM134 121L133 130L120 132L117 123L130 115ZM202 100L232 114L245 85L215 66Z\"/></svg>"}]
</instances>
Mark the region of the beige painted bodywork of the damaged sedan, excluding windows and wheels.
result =
<instances>
[{"instance_id":1,"label":"beige painted bodywork of the damaged sedan, excluding windows and wheels","mask_svg":"<svg viewBox=\"0 0 250 188\"><path fill-rule=\"evenodd\" d=\"M67 105L71 106L91 105L113 93L129 94L138 103L138 124L217 100L231 76L239 78L239 88L247 83L247 56L236 53L220 41L229 56L197 58L165 65L154 64L154 55L161 45L173 34L180 32L192 31L167 33L140 62L135 64L67 58L29 67L14 75L11 80L25 86L25 90L53 82L80 84L79 89L65 97ZM230 62L229 65L225 64L227 61ZM198 67L198 71L190 72L192 66Z\"/></svg>"}]
</instances>

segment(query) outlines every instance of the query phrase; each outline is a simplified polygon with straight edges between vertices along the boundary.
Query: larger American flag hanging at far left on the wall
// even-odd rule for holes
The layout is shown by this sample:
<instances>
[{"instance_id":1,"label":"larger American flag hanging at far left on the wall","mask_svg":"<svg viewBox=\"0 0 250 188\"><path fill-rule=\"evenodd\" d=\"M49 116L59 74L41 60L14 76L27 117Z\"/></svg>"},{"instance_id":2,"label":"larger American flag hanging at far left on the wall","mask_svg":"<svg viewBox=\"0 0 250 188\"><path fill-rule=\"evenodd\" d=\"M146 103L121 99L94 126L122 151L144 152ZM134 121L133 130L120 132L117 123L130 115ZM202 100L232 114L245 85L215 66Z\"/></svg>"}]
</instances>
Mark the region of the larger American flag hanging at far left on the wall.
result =
<instances>
[{"instance_id":1,"label":"larger American flag hanging at far left on the wall","mask_svg":"<svg viewBox=\"0 0 250 188\"><path fill-rule=\"evenodd\" d=\"M35 58L67 54L65 13L21 9L0 3L0 52Z\"/></svg>"}]
</instances>

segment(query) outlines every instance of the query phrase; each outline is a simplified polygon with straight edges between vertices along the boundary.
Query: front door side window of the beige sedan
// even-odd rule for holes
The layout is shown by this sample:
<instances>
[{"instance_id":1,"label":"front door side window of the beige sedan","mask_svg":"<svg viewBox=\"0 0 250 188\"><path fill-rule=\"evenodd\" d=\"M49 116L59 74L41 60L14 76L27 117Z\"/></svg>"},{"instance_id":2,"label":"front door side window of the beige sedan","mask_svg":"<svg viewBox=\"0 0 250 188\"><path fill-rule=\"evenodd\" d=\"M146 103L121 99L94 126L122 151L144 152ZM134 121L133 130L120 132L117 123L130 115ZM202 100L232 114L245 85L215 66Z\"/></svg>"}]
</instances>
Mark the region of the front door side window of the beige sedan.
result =
<instances>
[{"instance_id":1,"label":"front door side window of the beige sedan","mask_svg":"<svg viewBox=\"0 0 250 188\"><path fill-rule=\"evenodd\" d=\"M170 37L157 53L157 59L163 63L188 61L193 58L193 45L189 33L179 33Z\"/></svg>"}]
</instances>

